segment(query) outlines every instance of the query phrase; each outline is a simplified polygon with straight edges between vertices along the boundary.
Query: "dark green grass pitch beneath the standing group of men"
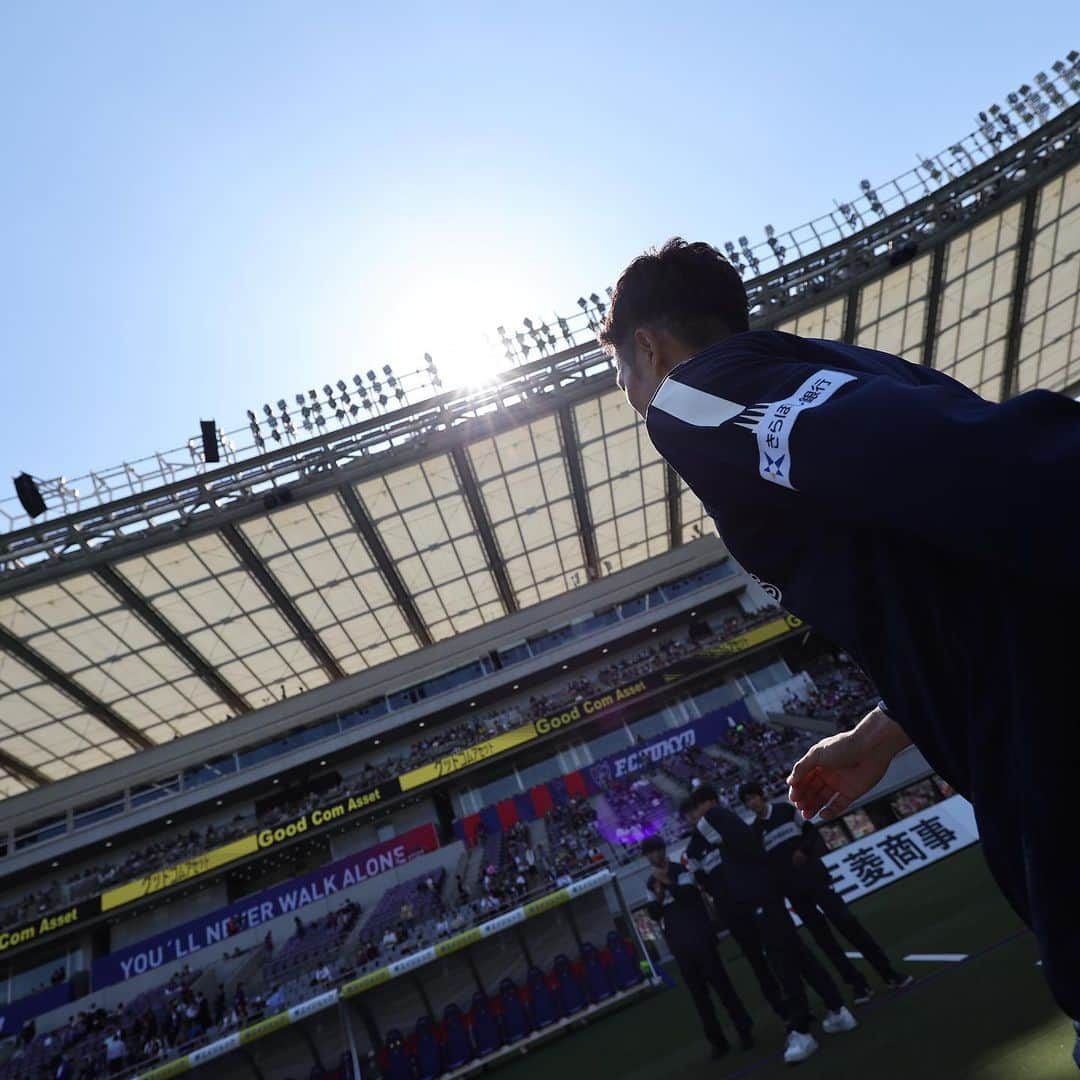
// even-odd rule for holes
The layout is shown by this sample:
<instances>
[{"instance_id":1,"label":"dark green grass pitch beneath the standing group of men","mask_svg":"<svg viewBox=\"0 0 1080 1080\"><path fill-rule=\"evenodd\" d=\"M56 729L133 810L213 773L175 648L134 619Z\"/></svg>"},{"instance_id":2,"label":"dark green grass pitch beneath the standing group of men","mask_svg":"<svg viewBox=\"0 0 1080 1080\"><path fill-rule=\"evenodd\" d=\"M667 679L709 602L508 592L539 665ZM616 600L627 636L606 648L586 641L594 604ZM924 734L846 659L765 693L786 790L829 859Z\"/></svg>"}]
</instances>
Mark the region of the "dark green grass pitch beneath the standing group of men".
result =
<instances>
[{"instance_id":1,"label":"dark green grass pitch beneath the standing group of men","mask_svg":"<svg viewBox=\"0 0 1080 1080\"><path fill-rule=\"evenodd\" d=\"M977 847L859 902L855 912L894 962L915 975L899 994L875 986L852 1010L861 1026L846 1035L815 1031L821 1050L795 1067L799 1080L1077 1080L1072 1028L1042 981L1035 942L1001 899ZM787 1076L783 1029L761 999L745 961L725 959L757 1021L757 1047L712 1061L689 995L679 985L499 1070L503 1080L652 1080L659 1077ZM914 953L967 954L961 962L907 962ZM861 961L856 961L860 963ZM811 999L822 1014L821 1003ZM730 1024L717 1004L729 1037Z\"/></svg>"}]
</instances>

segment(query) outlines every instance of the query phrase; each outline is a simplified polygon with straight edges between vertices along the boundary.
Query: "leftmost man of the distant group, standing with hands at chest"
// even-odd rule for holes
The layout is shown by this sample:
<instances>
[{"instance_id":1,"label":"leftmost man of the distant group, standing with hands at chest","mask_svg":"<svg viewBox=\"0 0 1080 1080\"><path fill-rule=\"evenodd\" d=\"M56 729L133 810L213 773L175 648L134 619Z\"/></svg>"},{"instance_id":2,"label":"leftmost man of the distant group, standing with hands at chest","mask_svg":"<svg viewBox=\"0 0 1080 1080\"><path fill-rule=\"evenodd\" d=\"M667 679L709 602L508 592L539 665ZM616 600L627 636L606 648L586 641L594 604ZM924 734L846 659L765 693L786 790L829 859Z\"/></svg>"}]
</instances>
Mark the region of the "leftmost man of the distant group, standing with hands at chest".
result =
<instances>
[{"instance_id":1,"label":"leftmost man of the distant group, standing with hands at chest","mask_svg":"<svg viewBox=\"0 0 1080 1080\"><path fill-rule=\"evenodd\" d=\"M724 969L724 961L716 950L716 926L693 875L667 858L667 849L659 836L646 839L642 843L642 853L652 866L646 883L651 896L647 907L649 917L664 932L667 947L675 957L683 982L701 1017L705 1038L713 1045L713 1056L723 1057L731 1044L716 1017L710 986L716 990L728 1011L743 1050L748 1050L754 1045L754 1021Z\"/></svg>"}]
</instances>

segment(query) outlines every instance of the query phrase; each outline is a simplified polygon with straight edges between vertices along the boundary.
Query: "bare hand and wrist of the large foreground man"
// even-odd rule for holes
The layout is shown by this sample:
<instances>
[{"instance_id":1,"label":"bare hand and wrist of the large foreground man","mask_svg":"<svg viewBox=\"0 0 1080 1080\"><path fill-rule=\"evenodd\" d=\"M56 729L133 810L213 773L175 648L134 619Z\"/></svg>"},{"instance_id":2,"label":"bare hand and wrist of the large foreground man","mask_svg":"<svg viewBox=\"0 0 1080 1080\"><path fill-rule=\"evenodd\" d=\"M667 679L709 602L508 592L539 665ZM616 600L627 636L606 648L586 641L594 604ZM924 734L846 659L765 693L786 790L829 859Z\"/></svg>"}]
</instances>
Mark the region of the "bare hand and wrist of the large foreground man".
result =
<instances>
[{"instance_id":1,"label":"bare hand and wrist of the large foreground man","mask_svg":"<svg viewBox=\"0 0 1080 1080\"><path fill-rule=\"evenodd\" d=\"M829 735L796 761L787 778L788 797L806 818L828 821L843 813L886 774L912 740L880 708L851 731Z\"/></svg>"}]
</instances>

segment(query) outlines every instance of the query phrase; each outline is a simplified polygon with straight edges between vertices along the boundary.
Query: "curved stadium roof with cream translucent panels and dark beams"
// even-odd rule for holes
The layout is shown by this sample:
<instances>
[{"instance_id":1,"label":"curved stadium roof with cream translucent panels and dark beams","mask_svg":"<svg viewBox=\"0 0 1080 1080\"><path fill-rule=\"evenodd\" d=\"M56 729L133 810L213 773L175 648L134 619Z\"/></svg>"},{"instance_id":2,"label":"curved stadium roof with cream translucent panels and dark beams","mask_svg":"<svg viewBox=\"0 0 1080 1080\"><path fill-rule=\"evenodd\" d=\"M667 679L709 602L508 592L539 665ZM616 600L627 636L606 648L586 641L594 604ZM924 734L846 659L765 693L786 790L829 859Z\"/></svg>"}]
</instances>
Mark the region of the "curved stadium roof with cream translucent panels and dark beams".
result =
<instances>
[{"instance_id":1,"label":"curved stadium roof with cream translucent panels and dark beams","mask_svg":"<svg viewBox=\"0 0 1080 1080\"><path fill-rule=\"evenodd\" d=\"M1055 79L1075 100L1070 63ZM755 325L894 351L994 400L1080 383L1080 105L1028 112L1026 133L1023 116L1010 135L995 113L997 139L988 119L981 157L966 140L920 166L924 190L864 185L838 239L742 244ZM785 262L792 244L810 254ZM527 327L539 359L482 390L260 436L220 465L160 456L84 497L57 484L36 523L0 505L0 796L700 536L700 504L613 387L592 300L581 328L559 324L568 348Z\"/></svg>"}]
</instances>

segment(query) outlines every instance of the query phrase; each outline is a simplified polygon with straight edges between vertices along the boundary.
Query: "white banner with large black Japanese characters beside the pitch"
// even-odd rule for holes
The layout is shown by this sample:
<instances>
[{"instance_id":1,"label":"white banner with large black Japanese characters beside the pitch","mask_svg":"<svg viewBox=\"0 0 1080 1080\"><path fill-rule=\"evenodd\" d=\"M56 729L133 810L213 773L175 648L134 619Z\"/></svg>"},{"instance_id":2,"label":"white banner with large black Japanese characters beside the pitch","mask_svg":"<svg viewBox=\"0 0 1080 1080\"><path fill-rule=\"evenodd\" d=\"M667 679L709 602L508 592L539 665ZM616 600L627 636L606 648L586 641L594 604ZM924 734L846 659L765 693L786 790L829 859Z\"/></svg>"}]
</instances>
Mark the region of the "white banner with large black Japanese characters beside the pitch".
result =
<instances>
[{"instance_id":1,"label":"white banner with large black Japanese characters beside the pitch","mask_svg":"<svg viewBox=\"0 0 1080 1080\"><path fill-rule=\"evenodd\" d=\"M822 859L847 901L892 885L978 840L975 811L960 795L853 840Z\"/></svg>"}]
</instances>

